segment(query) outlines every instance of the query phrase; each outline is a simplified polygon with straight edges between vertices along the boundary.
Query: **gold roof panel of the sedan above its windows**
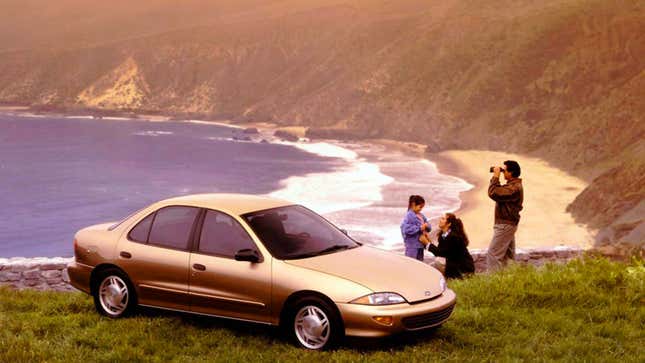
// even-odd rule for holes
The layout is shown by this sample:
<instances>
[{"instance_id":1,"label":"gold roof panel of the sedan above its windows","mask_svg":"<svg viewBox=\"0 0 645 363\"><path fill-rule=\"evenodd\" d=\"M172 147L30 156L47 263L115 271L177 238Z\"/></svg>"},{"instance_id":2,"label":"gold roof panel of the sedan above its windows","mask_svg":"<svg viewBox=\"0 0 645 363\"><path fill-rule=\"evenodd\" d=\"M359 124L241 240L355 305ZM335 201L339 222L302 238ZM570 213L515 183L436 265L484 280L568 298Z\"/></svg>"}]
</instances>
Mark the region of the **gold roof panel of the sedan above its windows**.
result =
<instances>
[{"instance_id":1,"label":"gold roof panel of the sedan above its windows","mask_svg":"<svg viewBox=\"0 0 645 363\"><path fill-rule=\"evenodd\" d=\"M190 205L201 208L227 211L229 213L237 215L294 204L278 198L263 197L250 194L222 193L184 195L181 197L165 199L160 201L159 203L163 205Z\"/></svg>"}]
</instances>

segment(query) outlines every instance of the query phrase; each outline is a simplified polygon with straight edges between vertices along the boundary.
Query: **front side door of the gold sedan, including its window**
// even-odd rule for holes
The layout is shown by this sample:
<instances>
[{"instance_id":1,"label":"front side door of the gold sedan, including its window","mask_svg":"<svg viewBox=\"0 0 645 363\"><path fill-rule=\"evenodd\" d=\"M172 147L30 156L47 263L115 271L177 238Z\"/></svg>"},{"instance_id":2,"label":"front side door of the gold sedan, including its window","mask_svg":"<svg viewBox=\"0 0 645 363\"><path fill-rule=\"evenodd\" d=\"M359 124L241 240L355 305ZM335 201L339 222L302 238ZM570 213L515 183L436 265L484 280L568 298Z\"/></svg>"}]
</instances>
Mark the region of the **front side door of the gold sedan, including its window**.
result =
<instances>
[{"instance_id":1,"label":"front side door of the gold sedan, including its window","mask_svg":"<svg viewBox=\"0 0 645 363\"><path fill-rule=\"evenodd\" d=\"M190 256L191 311L269 322L271 259L236 261L242 249L260 252L242 225L230 215L206 210Z\"/></svg>"}]
</instances>

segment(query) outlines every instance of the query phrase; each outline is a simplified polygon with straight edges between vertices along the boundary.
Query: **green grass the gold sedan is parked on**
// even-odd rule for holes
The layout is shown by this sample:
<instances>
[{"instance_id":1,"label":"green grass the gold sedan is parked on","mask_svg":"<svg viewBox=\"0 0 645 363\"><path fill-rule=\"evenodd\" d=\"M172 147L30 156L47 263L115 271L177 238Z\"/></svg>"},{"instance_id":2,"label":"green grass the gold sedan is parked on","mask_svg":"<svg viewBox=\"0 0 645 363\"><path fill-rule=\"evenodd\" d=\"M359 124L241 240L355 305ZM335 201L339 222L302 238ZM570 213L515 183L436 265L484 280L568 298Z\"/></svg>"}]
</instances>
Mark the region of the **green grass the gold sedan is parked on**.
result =
<instances>
[{"instance_id":1,"label":"green grass the gold sedan is parked on","mask_svg":"<svg viewBox=\"0 0 645 363\"><path fill-rule=\"evenodd\" d=\"M274 328L156 310L111 320L81 293L0 289L0 361L643 362L643 281L640 260L514 266L449 283L458 305L437 330L322 353Z\"/></svg>"}]
</instances>

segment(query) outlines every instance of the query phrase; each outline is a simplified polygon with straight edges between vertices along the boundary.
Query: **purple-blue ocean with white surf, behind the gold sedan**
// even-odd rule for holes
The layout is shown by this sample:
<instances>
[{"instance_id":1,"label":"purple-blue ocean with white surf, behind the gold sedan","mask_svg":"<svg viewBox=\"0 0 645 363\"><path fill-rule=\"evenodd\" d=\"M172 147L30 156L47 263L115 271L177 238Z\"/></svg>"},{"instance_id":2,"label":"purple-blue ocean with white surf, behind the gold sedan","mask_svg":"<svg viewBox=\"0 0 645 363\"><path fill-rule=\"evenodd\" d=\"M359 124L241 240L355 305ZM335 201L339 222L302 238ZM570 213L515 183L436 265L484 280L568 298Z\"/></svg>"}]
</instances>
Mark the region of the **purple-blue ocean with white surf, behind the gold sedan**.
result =
<instances>
[{"instance_id":1,"label":"purple-blue ocean with white surf, behind the gold sedan","mask_svg":"<svg viewBox=\"0 0 645 363\"><path fill-rule=\"evenodd\" d=\"M426 197L436 219L471 187L381 145L285 142L190 120L0 114L0 257L72 256L77 230L194 193L287 199L401 252L410 194Z\"/></svg>"}]
</instances>

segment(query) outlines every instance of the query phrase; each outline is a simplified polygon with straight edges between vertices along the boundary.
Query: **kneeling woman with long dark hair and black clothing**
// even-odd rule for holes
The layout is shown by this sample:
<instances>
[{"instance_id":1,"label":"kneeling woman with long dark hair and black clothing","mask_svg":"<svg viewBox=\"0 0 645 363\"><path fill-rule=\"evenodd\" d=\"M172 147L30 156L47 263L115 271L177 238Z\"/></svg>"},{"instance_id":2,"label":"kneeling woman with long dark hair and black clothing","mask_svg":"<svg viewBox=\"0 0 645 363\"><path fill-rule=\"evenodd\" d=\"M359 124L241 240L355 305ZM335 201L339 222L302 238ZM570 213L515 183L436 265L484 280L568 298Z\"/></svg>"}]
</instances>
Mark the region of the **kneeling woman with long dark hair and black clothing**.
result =
<instances>
[{"instance_id":1,"label":"kneeling woman with long dark hair and black clothing","mask_svg":"<svg viewBox=\"0 0 645 363\"><path fill-rule=\"evenodd\" d=\"M439 220L439 228L439 245L430 244L428 250L435 256L446 258L446 277L462 278L464 274L475 272L475 263L467 248L468 236L461 219L446 213Z\"/></svg>"}]
</instances>

